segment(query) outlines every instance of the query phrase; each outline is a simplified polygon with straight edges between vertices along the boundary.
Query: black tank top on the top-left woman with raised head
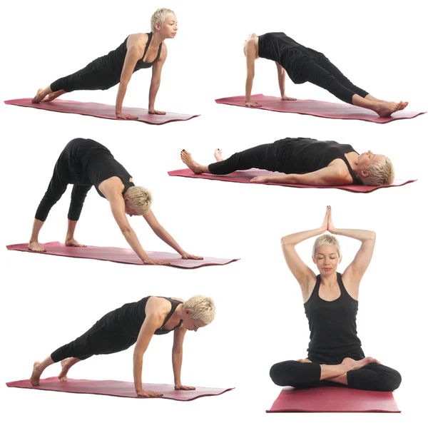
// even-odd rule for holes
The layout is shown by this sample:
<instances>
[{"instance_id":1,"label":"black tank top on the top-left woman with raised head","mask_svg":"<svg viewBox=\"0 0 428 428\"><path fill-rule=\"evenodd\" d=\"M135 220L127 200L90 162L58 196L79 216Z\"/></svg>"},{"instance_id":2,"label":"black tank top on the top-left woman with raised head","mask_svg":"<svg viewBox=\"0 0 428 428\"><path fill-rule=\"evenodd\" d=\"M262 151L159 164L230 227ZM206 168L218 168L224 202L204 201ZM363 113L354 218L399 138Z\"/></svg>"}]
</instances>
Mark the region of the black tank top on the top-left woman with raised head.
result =
<instances>
[{"instance_id":1,"label":"black tank top on the top-left woman with raised head","mask_svg":"<svg viewBox=\"0 0 428 428\"><path fill-rule=\"evenodd\" d=\"M135 73L137 70L140 70L141 68L150 68L154 63L156 63L156 61L158 61L159 56L161 56L162 44L159 45L158 56L156 56L153 62L146 63L143 61L144 57L146 56L148 46L150 46L151 39L153 37L152 33L148 33L147 35L148 41L146 44L146 49L144 49L143 56L137 61L133 73ZM99 73L100 75L108 74L109 76L115 76L116 79L120 81L123 63L125 62L126 52L128 51L128 49L126 49L128 37L125 39L125 41L123 41L121 46L118 46L118 48L110 51L107 55L96 58L96 60L92 62L93 70L96 73Z\"/></svg>"}]
</instances>

